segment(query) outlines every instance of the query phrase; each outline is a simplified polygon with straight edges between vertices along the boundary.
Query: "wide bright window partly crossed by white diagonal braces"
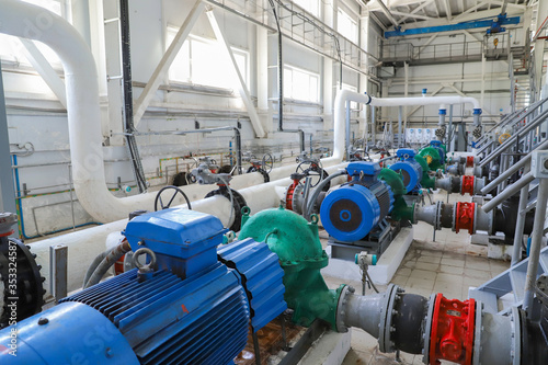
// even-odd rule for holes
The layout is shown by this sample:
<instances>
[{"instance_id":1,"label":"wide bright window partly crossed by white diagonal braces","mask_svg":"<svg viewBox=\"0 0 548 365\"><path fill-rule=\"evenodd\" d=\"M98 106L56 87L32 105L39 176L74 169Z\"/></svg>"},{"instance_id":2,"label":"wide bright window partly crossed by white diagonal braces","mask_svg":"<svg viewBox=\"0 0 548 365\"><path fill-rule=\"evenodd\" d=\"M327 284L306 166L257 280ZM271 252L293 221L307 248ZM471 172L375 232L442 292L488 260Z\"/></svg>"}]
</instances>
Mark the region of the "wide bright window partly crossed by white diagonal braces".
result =
<instances>
[{"instance_id":1,"label":"wide bright window partly crossed by white diagonal braces","mask_svg":"<svg viewBox=\"0 0 548 365\"><path fill-rule=\"evenodd\" d=\"M171 44L178 30L168 27L168 45ZM184 82L235 89L238 80L229 60L219 64L219 45L217 41L190 35L183 43L169 70L171 82ZM249 53L231 47L238 69L246 83L249 80Z\"/></svg>"}]
</instances>

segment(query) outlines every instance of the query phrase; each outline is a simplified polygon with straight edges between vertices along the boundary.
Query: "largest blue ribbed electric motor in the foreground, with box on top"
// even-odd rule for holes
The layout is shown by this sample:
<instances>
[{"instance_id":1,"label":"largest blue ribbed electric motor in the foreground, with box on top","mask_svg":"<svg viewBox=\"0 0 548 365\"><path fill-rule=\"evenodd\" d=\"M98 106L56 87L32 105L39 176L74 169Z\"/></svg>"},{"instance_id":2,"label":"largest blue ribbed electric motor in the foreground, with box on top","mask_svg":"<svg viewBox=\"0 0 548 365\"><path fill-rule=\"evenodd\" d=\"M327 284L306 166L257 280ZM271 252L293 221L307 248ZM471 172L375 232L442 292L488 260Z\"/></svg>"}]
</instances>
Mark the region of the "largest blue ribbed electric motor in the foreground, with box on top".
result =
<instances>
[{"instance_id":1,"label":"largest blue ribbed electric motor in the foreground, with box on top","mask_svg":"<svg viewBox=\"0 0 548 365\"><path fill-rule=\"evenodd\" d=\"M258 331L287 305L277 255L252 239L217 251L226 231L194 210L134 218L125 236L148 264L18 323L15 340L0 331L2 365L231 364L250 319Z\"/></svg>"}]
</instances>

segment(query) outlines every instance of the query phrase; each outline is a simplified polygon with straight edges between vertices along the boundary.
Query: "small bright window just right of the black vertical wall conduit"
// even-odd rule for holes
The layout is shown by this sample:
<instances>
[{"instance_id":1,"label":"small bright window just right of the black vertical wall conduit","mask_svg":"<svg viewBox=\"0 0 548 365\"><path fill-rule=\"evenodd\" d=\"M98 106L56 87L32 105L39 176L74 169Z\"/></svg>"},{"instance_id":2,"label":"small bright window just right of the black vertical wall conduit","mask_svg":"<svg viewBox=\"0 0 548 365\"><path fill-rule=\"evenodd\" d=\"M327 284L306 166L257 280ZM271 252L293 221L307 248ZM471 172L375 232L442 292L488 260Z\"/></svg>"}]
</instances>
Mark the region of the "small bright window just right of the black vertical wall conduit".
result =
<instances>
[{"instance_id":1,"label":"small bright window just right of the black vertical wall conduit","mask_svg":"<svg viewBox=\"0 0 548 365\"><path fill-rule=\"evenodd\" d=\"M311 103L320 102L320 76L293 66L284 66L284 95Z\"/></svg>"}]
</instances>

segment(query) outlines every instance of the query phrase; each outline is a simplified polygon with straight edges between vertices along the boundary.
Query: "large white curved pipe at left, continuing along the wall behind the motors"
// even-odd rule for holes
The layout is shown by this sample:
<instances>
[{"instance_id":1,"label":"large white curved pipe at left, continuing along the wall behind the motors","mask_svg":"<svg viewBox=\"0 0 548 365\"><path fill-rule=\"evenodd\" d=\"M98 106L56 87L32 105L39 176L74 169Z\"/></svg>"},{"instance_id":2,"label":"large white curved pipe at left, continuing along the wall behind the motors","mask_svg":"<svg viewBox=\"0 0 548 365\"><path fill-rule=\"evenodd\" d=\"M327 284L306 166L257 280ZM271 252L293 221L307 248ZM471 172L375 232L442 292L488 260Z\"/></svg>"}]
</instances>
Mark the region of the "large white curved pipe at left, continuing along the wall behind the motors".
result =
<instances>
[{"instance_id":1,"label":"large white curved pipe at left, continuing along the wall behind the motors","mask_svg":"<svg viewBox=\"0 0 548 365\"><path fill-rule=\"evenodd\" d=\"M62 61L67 91L67 114L70 158L75 191L82 207L96 221L110 223L127 217L137 209L152 209L156 193L145 193L117 198L109 192L103 162L101 115L99 104L99 76L88 45L62 18L23 1L0 0L0 33L34 39L48 45ZM329 167L342 161L344 141L338 144L338 135L344 135L344 121L335 121L333 157L323 159ZM288 176L295 164L274 169L270 176L277 180ZM258 172L235 176L233 189L263 183ZM190 185L182 190L191 201L203 198L210 186Z\"/></svg>"}]
</instances>

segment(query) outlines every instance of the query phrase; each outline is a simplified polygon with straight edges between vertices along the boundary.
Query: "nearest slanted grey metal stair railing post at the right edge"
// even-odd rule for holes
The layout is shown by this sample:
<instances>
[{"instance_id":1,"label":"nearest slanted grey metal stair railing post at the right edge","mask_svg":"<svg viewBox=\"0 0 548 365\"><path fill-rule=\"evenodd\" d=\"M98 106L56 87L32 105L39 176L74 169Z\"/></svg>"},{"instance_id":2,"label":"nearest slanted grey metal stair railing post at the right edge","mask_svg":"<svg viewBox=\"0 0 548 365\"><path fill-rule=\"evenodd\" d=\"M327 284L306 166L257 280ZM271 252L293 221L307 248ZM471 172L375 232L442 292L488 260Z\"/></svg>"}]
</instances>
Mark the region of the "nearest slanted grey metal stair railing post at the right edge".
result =
<instances>
[{"instance_id":1,"label":"nearest slanted grey metal stair railing post at the right edge","mask_svg":"<svg viewBox=\"0 0 548 365\"><path fill-rule=\"evenodd\" d=\"M548 203L548 179L540 179L538 185L537 206L535 212L535 223L533 224L533 237L530 240L529 263L527 265L527 276L525 278L525 297L523 309L530 317L530 305L533 304L533 293L538 273L538 261L540 259L540 246L543 243L543 232L546 219L546 204Z\"/></svg>"}]
</instances>

